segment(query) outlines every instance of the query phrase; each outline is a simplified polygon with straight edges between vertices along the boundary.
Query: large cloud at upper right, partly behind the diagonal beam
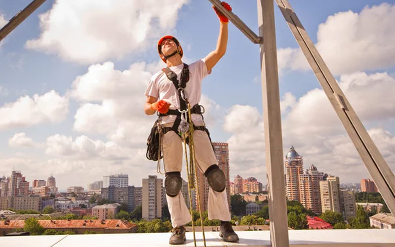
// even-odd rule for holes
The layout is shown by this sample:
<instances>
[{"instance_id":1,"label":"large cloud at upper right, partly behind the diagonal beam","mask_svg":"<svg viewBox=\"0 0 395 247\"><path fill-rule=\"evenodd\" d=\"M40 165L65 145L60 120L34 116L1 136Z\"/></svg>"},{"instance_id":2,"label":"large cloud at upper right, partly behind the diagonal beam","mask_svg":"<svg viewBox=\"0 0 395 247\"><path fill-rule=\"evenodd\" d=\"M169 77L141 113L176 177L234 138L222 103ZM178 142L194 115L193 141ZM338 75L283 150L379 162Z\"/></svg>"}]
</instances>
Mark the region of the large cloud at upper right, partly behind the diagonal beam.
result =
<instances>
[{"instance_id":1,"label":"large cloud at upper right, partly behind the diagonal beam","mask_svg":"<svg viewBox=\"0 0 395 247\"><path fill-rule=\"evenodd\" d=\"M318 26L316 47L334 75L395 66L395 5L339 12ZM278 50L278 68L310 70L299 48Z\"/></svg>"}]
</instances>

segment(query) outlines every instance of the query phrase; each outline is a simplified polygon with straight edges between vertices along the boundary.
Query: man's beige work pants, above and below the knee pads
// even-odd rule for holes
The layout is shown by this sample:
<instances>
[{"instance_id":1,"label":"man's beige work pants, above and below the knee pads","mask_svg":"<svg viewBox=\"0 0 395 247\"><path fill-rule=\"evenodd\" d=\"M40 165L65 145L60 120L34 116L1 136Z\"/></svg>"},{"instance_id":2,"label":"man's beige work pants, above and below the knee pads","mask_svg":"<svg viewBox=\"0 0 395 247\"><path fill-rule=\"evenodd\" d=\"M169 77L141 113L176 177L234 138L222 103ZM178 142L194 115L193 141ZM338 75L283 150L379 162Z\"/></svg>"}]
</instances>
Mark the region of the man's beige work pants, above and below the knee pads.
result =
<instances>
[{"instance_id":1,"label":"man's beige work pants, above and below the knee pads","mask_svg":"<svg viewBox=\"0 0 395 247\"><path fill-rule=\"evenodd\" d=\"M173 123L163 124L164 127L171 127ZM166 172L180 171L183 160L183 142L180 136L174 131L168 131L163 136L163 163ZM205 131L194 131L194 147L196 165L201 172L205 172L211 165L218 165L210 139ZM183 226L191 221L191 214L185 204L181 191L175 197L166 194L167 206L171 216L173 227ZM188 200L188 199L187 199ZM230 221L228 199L226 190L217 192L209 188L208 191L208 219L219 219Z\"/></svg>"}]
</instances>

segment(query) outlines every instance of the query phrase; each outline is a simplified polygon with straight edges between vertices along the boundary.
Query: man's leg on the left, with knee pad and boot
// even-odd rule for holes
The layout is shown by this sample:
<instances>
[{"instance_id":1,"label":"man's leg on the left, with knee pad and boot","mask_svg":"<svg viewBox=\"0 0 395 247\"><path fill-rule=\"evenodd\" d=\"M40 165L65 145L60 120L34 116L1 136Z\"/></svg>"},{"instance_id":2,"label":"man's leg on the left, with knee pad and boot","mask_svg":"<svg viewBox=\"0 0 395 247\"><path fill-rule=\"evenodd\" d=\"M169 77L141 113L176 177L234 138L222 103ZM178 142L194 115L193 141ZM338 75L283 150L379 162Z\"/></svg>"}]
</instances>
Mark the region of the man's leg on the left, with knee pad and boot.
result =
<instances>
[{"instance_id":1,"label":"man's leg on the left, with knee pad and boot","mask_svg":"<svg viewBox=\"0 0 395 247\"><path fill-rule=\"evenodd\" d=\"M172 123L164 126L172 126ZM166 200L173 226L173 233L169 243L183 244L185 242L185 229L183 226L191 221L191 214L181 193L182 142L178 134L174 131L168 131L163 136L162 144L163 163L166 172L164 180Z\"/></svg>"}]
</instances>

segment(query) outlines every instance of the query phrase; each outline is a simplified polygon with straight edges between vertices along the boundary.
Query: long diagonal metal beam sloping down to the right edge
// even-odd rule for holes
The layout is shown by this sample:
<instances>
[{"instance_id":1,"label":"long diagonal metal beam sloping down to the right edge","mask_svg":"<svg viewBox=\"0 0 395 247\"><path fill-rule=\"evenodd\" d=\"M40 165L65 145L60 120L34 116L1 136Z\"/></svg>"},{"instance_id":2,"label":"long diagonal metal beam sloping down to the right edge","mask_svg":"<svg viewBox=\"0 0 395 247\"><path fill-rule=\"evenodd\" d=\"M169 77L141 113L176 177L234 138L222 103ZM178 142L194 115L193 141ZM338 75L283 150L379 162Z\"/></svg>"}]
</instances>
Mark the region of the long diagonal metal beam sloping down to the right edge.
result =
<instances>
[{"instance_id":1,"label":"long diagonal metal beam sloping down to the right edge","mask_svg":"<svg viewBox=\"0 0 395 247\"><path fill-rule=\"evenodd\" d=\"M387 203L391 212L395 213L394 173L360 122L354 109L340 89L340 86L333 78L333 75L319 55L316 46L296 16L288 0L276 0L276 2L296 41L305 54L307 61L312 67L318 82L321 84L337 116L354 143L359 156L380 190L384 201Z\"/></svg>"}]
</instances>

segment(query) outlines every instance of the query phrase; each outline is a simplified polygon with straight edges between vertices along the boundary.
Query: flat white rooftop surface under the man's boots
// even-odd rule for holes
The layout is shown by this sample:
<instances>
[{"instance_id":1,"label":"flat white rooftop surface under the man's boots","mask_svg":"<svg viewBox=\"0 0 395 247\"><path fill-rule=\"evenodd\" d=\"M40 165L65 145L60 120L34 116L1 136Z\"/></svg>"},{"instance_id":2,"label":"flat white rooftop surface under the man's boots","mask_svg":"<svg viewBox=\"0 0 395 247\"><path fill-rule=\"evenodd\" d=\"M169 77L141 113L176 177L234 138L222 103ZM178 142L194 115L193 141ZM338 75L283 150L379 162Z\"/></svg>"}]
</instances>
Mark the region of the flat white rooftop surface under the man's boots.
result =
<instances>
[{"instance_id":1,"label":"flat white rooftop surface under the man's boots","mask_svg":"<svg viewBox=\"0 0 395 247\"><path fill-rule=\"evenodd\" d=\"M238 243L223 242L218 232L206 232L207 247L270 247L269 231L237 232ZM395 229L361 230L293 230L289 231L291 247L394 247ZM55 235L0 237L4 247L169 247L170 233L131 233L94 235ZM202 247L202 234L196 233L197 246ZM193 235L187 243L193 247ZM174 247L174 246L172 246Z\"/></svg>"}]
</instances>

